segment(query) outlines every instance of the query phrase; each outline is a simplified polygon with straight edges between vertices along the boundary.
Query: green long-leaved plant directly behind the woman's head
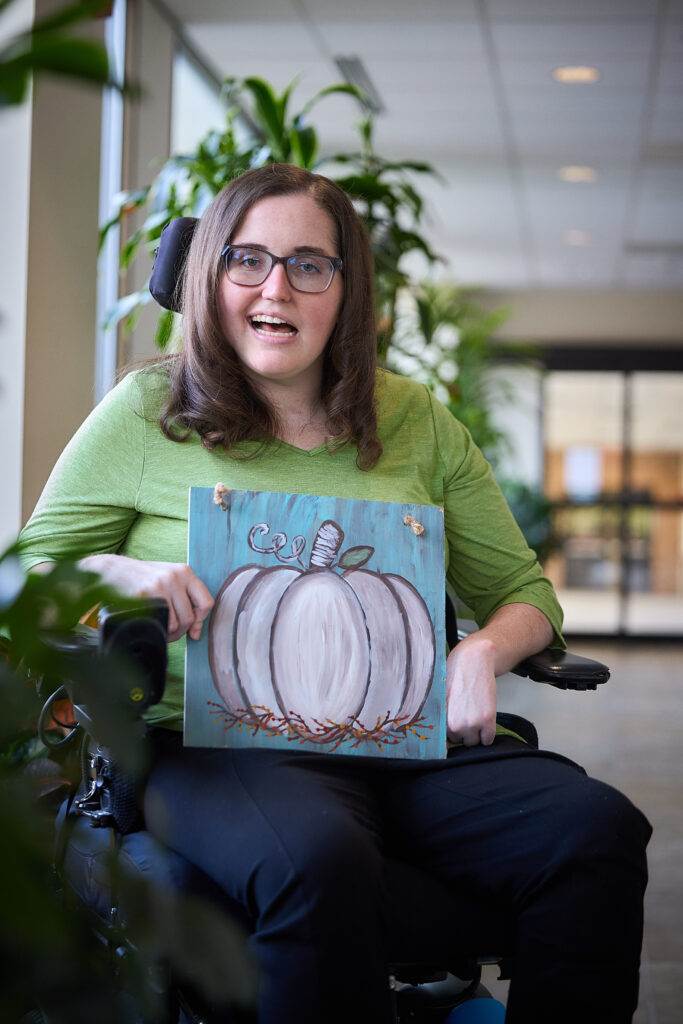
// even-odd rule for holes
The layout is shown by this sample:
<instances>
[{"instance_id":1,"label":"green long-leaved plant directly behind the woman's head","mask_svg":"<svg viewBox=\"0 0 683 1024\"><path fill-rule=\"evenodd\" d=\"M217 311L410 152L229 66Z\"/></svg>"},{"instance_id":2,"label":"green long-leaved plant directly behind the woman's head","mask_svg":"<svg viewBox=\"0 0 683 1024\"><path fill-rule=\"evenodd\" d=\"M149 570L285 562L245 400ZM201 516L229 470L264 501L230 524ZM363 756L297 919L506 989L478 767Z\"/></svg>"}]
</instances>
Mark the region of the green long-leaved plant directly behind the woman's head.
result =
<instances>
[{"instance_id":1,"label":"green long-leaved plant directly behind the woman's head","mask_svg":"<svg viewBox=\"0 0 683 1024\"><path fill-rule=\"evenodd\" d=\"M310 124L313 109L334 94L352 96L362 108L364 94L345 83L330 85L292 113L296 85L295 79L279 94L260 78L227 79L223 85L227 101L224 128L208 132L195 153L172 156L151 184L120 194L100 238L103 241L115 224L124 226L136 211L144 213L122 247L121 268L125 271L140 251L148 256L154 252L169 220L200 216L220 188L243 171L280 162L319 169L353 199L368 225L375 254L379 351L383 355L393 333L397 293L409 280L401 266L403 257L419 250L429 261L437 258L418 230L423 201L413 182L415 175L434 172L427 164L380 157L375 152L373 119L367 110L355 123L357 152L322 157L317 133ZM110 311L108 325L123 319L132 327L148 301L146 285L125 295ZM162 313L156 336L162 349L169 342L172 326L173 314Z\"/></svg>"}]
</instances>

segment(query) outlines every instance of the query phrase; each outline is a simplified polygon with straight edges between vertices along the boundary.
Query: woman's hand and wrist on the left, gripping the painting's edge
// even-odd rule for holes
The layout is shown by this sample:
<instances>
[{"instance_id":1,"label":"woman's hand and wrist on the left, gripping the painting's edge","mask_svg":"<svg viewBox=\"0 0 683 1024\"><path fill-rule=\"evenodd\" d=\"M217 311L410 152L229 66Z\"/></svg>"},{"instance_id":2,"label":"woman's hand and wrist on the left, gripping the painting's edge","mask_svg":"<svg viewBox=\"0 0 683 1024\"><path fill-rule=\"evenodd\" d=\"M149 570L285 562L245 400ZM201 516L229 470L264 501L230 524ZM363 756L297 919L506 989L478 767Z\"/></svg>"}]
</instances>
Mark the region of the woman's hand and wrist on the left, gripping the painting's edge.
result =
<instances>
[{"instance_id":1,"label":"woman's hand and wrist on the left, gripping the painting's edge","mask_svg":"<svg viewBox=\"0 0 683 1024\"><path fill-rule=\"evenodd\" d=\"M169 643L186 633L199 640L202 625L214 600L188 565L182 562L143 562L126 555L88 555L79 565L98 572L126 597L161 597L168 604Z\"/></svg>"}]
</instances>

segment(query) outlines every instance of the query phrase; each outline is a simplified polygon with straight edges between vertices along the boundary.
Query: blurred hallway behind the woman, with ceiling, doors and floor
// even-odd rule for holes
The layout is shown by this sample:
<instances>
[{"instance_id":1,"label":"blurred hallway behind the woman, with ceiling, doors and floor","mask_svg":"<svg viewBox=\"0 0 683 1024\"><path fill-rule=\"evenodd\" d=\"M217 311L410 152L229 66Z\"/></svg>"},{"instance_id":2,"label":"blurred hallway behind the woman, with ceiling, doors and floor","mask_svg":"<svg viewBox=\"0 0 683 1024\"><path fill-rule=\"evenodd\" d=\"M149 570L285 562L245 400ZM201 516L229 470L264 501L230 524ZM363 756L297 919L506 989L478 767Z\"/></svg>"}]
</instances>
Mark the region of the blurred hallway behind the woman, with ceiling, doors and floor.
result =
<instances>
[{"instance_id":1,"label":"blurred hallway behind the woman, with ceiling, doors and floor","mask_svg":"<svg viewBox=\"0 0 683 1024\"><path fill-rule=\"evenodd\" d=\"M4 5L0 42L61 6ZM158 311L126 321L164 216L200 213L215 185L202 174L219 158L232 166L221 140L258 162L278 131L310 129L323 173L390 181L405 237L379 307L382 357L470 425L558 590L572 648L612 667L598 695L503 689L547 745L597 766L654 821L638 1021L673 1024L683 0L116 0L104 13L84 31L136 92L45 76L0 112L2 542L117 370L158 351ZM245 85L254 78L265 92ZM295 79L278 129L268 111ZM366 101L319 96L339 83ZM356 195L376 212L379 193Z\"/></svg>"}]
</instances>

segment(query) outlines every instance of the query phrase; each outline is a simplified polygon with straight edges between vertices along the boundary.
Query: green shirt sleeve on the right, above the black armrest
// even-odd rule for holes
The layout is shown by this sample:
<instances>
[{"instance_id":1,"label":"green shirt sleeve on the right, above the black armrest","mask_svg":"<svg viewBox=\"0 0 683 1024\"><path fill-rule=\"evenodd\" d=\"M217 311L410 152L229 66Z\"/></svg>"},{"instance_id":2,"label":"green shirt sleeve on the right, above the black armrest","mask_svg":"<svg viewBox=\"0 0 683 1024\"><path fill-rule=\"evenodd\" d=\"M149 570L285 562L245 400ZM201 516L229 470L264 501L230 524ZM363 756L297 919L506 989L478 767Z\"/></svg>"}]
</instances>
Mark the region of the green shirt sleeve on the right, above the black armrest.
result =
<instances>
[{"instance_id":1,"label":"green shirt sleeve on the right, above the black armrest","mask_svg":"<svg viewBox=\"0 0 683 1024\"><path fill-rule=\"evenodd\" d=\"M431 396L443 464L447 579L483 626L505 604L531 604L564 646L562 609L496 482L490 465L459 423Z\"/></svg>"}]
</instances>

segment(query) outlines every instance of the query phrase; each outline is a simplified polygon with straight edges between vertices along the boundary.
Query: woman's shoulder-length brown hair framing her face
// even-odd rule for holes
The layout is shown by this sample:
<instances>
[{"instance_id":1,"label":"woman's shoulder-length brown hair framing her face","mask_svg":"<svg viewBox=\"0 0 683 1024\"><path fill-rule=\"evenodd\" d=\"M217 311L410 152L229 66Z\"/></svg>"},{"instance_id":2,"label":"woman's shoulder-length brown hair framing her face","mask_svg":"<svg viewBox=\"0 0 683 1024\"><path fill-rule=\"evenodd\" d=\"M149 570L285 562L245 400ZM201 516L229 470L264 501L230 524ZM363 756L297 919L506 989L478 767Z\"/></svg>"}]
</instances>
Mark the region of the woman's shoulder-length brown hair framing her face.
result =
<instances>
[{"instance_id":1,"label":"woman's shoulder-length brown hair framing her face","mask_svg":"<svg viewBox=\"0 0 683 1024\"><path fill-rule=\"evenodd\" d=\"M251 208L271 196L311 197L331 218L343 260L343 298L324 353L321 400L330 442L354 442L360 469L382 454L377 436L377 340L373 258L365 225L346 194L319 174L289 164L247 171L216 196L191 242L182 286L183 350L169 360L171 395L161 427L172 440L197 430L207 449L232 453L244 440L278 436L274 410L249 379L220 325L220 253ZM229 342L229 338L227 339Z\"/></svg>"}]
</instances>

